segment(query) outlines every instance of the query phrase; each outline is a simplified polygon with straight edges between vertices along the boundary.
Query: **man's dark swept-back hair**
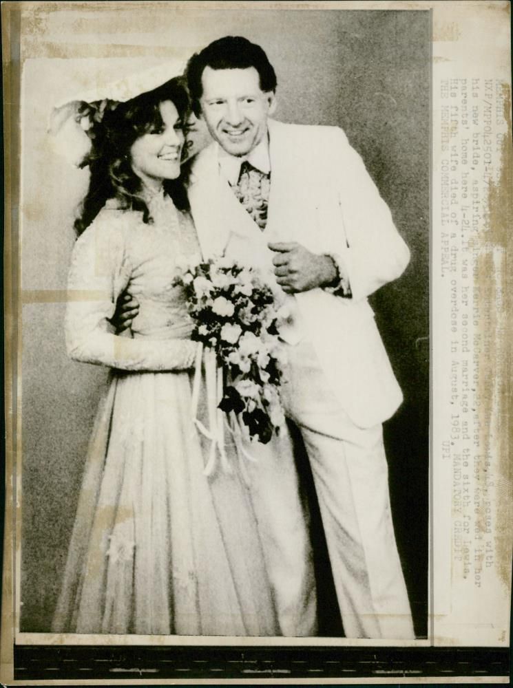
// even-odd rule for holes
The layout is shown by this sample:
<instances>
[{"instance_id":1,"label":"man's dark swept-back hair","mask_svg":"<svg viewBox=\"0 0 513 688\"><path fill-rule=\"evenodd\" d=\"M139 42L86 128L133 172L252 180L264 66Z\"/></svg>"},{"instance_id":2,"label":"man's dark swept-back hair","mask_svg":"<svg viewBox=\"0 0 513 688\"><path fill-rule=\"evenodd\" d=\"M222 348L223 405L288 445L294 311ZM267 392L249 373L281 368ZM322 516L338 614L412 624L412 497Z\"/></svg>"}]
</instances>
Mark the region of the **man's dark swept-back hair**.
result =
<instances>
[{"instance_id":1,"label":"man's dark swept-back hair","mask_svg":"<svg viewBox=\"0 0 513 688\"><path fill-rule=\"evenodd\" d=\"M187 63L187 85L191 94L193 110L200 114L200 98L203 93L201 77L205 67L211 69L248 69L255 67L260 77L260 88L264 92L275 91L277 86L273 65L260 45L251 43L242 36L224 36L213 41L200 52L193 54Z\"/></svg>"}]
</instances>

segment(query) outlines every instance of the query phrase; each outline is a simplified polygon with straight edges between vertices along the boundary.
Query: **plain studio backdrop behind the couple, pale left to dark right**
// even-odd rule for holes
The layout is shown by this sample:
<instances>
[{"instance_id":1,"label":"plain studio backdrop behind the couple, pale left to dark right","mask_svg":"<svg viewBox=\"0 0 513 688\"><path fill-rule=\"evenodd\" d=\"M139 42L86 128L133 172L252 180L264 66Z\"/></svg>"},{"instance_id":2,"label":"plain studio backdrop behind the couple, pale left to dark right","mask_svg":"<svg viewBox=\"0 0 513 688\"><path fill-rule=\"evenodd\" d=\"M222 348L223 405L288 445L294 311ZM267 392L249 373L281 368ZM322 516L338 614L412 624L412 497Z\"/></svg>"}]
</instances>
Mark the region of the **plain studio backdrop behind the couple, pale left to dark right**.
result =
<instances>
[{"instance_id":1,"label":"plain studio backdrop behind the couple, pale left to dark right","mask_svg":"<svg viewBox=\"0 0 513 688\"><path fill-rule=\"evenodd\" d=\"M24 26L22 56L30 59L22 96L21 265L28 291L22 323L21 630L49 630L98 389L105 383L103 369L72 363L65 355L63 290L74 208L87 171L55 155L48 114L60 100L101 79L187 58L213 39L242 34L260 43L275 66L276 117L342 127L412 252L405 275L372 301L405 396L386 424L386 446L399 551L417 632L426 634L428 12L187 11L151 3L142 10L126 4L123 12L108 4L101 10L76 8L56 3L34 10Z\"/></svg>"}]
</instances>

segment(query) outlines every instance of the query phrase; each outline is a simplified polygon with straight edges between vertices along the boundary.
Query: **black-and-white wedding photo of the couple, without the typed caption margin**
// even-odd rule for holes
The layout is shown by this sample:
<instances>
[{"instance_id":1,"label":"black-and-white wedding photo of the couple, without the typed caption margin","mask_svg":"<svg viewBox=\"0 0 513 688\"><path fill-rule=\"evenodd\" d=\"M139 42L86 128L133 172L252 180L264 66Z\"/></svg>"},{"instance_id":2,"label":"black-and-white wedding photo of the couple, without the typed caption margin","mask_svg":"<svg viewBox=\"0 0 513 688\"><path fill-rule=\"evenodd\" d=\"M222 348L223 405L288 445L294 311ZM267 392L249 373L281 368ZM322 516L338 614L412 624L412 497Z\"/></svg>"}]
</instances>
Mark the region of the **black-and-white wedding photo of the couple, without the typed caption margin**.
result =
<instances>
[{"instance_id":1,"label":"black-and-white wedding photo of the couple, without the typed caption margin","mask_svg":"<svg viewBox=\"0 0 513 688\"><path fill-rule=\"evenodd\" d=\"M19 12L17 645L435 643L432 3L346 4Z\"/></svg>"}]
</instances>

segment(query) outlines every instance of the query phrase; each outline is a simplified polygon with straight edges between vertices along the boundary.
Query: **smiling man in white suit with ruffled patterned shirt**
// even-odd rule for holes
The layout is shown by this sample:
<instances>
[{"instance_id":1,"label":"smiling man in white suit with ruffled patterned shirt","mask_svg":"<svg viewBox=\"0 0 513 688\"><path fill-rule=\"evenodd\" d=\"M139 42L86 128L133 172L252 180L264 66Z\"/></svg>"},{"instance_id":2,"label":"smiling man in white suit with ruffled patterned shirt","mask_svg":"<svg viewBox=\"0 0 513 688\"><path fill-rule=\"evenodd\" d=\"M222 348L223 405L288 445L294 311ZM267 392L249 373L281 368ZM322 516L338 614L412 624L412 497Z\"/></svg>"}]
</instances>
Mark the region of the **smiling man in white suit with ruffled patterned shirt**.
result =
<instances>
[{"instance_id":1,"label":"smiling man in white suit with ruffled patterned shirt","mask_svg":"<svg viewBox=\"0 0 513 688\"><path fill-rule=\"evenodd\" d=\"M213 138L189 187L202 250L260 268L289 294L282 398L311 462L344 632L413 638L381 426L402 395L367 302L401 275L408 248L341 129L271 119L276 77L262 48L214 41L187 78ZM272 517L262 509L271 528Z\"/></svg>"}]
</instances>

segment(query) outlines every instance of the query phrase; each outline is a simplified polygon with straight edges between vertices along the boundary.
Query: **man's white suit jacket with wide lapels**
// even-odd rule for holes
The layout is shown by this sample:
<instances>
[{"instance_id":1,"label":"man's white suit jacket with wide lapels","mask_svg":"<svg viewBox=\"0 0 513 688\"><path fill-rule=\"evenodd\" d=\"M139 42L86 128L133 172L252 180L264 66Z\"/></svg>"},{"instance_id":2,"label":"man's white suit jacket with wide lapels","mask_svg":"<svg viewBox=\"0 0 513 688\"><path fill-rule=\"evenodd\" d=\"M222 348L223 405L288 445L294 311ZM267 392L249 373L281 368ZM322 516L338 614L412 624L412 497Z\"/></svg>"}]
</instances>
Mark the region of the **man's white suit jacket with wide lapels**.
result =
<instances>
[{"instance_id":1,"label":"man's white suit jacket with wide lapels","mask_svg":"<svg viewBox=\"0 0 513 688\"><path fill-rule=\"evenodd\" d=\"M410 258L362 158L337 127L269 120L271 192L262 232L221 177L218 144L193 161L191 212L205 257L227 255L271 273L268 241L297 241L339 255L351 298L316 288L295 295L326 381L359 427L390 418L401 390L367 297L396 279Z\"/></svg>"}]
</instances>

